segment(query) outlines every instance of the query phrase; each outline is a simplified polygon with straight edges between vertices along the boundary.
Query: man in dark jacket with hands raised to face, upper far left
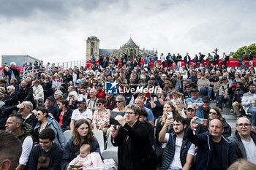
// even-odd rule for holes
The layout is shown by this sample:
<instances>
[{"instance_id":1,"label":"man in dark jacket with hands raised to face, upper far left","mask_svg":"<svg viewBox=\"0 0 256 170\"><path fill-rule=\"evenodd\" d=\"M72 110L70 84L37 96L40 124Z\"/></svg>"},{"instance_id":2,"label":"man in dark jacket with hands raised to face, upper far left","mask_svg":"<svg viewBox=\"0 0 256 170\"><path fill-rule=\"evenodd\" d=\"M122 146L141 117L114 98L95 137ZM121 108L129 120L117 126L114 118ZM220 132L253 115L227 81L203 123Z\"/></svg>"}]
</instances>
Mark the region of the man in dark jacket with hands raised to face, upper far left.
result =
<instances>
[{"instance_id":1,"label":"man in dark jacket with hands raised to face, upper far left","mask_svg":"<svg viewBox=\"0 0 256 170\"><path fill-rule=\"evenodd\" d=\"M17 84L20 84L20 70L16 68L15 62L10 63L10 66L6 65L4 67L4 74L9 76L9 84L12 77L15 77L17 79Z\"/></svg>"}]
</instances>

